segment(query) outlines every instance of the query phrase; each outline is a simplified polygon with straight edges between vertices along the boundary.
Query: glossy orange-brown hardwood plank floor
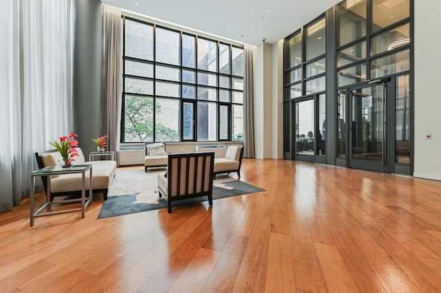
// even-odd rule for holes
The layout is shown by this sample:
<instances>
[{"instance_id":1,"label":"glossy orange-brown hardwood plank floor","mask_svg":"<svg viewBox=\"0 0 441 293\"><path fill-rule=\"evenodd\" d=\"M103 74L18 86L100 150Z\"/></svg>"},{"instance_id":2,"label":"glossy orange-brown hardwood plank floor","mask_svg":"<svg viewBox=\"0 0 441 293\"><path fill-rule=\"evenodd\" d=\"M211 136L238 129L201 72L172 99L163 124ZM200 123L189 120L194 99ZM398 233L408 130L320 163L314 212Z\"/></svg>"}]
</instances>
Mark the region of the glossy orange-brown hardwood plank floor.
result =
<instances>
[{"instance_id":1,"label":"glossy orange-brown hardwood plank floor","mask_svg":"<svg viewBox=\"0 0 441 293\"><path fill-rule=\"evenodd\" d=\"M266 191L172 214L96 219L95 201L31 228L25 200L0 215L0 292L441 292L441 182L285 160L242 173Z\"/></svg>"}]
</instances>

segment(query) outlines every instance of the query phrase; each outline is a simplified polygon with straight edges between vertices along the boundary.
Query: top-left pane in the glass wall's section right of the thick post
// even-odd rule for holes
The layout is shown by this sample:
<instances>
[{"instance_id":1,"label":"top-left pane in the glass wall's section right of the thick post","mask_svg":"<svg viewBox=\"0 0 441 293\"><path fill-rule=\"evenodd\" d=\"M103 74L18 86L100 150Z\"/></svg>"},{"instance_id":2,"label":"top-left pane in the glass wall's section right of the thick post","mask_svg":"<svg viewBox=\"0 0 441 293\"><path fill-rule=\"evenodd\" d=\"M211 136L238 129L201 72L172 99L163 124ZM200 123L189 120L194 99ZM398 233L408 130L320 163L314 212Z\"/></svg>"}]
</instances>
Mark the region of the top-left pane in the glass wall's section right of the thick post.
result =
<instances>
[{"instance_id":1,"label":"top-left pane in the glass wall's section right of the thick post","mask_svg":"<svg viewBox=\"0 0 441 293\"><path fill-rule=\"evenodd\" d=\"M366 36L366 0L347 0L338 5L339 45Z\"/></svg>"}]
</instances>

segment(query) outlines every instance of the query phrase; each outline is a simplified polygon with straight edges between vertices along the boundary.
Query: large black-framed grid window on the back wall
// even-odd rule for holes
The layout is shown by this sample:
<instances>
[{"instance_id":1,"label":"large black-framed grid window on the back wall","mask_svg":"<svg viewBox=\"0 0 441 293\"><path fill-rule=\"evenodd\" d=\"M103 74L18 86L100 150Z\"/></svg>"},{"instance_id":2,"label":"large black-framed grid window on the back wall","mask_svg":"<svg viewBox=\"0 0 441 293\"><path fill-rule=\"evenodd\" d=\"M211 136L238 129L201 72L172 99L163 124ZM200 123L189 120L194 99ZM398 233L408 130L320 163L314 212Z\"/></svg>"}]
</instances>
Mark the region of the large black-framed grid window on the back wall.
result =
<instances>
[{"instance_id":1,"label":"large black-framed grid window on the back wall","mask_svg":"<svg viewBox=\"0 0 441 293\"><path fill-rule=\"evenodd\" d=\"M243 140L243 47L122 21L121 142Z\"/></svg>"}]
</instances>

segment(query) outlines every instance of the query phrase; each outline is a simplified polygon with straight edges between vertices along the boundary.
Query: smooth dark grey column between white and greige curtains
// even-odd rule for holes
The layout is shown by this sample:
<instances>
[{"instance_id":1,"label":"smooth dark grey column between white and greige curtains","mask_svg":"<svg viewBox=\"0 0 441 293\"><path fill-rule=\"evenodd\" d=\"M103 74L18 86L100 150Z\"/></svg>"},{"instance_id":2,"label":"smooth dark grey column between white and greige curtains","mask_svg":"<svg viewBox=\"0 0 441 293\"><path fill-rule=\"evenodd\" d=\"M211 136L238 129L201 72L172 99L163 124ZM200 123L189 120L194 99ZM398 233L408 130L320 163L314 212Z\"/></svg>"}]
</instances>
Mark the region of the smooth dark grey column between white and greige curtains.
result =
<instances>
[{"instance_id":1,"label":"smooth dark grey column between white and greige curtains","mask_svg":"<svg viewBox=\"0 0 441 293\"><path fill-rule=\"evenodd\" d=\"M73 131L88 158L90 151L96 151L90 138L105 134L101 110L103 8L99 0L73 0L71 6Z\"/></svg>"}]
</instances>

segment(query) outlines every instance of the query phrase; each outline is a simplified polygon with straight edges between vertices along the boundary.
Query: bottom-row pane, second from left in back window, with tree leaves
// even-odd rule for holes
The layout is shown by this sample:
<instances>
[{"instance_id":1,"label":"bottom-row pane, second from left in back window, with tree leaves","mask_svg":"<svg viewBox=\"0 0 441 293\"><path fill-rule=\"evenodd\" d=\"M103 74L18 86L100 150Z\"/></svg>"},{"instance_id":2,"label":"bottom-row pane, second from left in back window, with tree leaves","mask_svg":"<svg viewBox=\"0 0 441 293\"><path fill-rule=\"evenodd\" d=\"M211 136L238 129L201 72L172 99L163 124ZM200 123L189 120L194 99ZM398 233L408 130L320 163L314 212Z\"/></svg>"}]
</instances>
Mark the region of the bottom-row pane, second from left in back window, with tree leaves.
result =
<instances>
[{"instance_id":1,"label":"bottom-row pane, second from left in back window, with tree leaves","mask_svg":"<svg viewBox=\"0 0 441 293\"><path fill-rule=\"evenodd\" d=\"M156 142L178 142L181 102L174 99L157 98L155 109L155 140Z\"/></svg>"}]
</instances>

